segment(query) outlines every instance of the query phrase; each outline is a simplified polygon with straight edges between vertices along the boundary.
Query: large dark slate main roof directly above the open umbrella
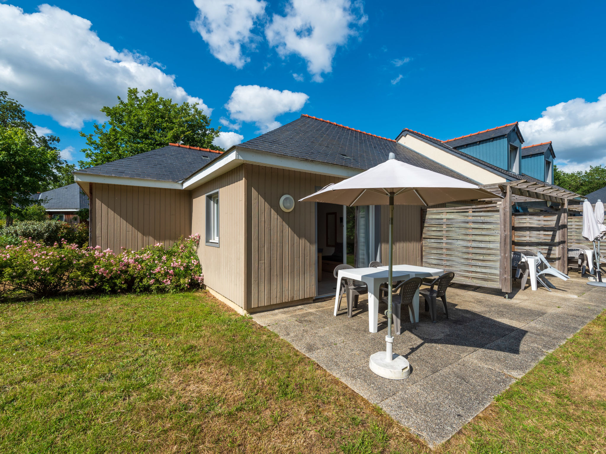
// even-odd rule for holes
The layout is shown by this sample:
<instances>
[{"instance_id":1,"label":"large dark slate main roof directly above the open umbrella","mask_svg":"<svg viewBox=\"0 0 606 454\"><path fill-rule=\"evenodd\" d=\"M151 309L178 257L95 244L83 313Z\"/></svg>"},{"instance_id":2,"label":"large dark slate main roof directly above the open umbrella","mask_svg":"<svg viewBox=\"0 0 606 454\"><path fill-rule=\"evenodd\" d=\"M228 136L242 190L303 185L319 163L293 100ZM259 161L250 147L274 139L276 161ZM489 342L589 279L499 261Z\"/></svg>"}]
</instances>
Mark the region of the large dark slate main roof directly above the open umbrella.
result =
<instances>
[{"instance_id":1,"label":"large dark slate main roof directly above the open umbrella","mask_svg":"<svg viewBox=\"0 0 606 454\"><path fill-rule=\"evenodd\" d=\"M453 169L416 153L393 139L305 114L273 131L240 143L236 148L265 151L362 170L385 162L390 153L395 153L396 159L402 162L475 183Z\"/></svg>"}]
</instances>

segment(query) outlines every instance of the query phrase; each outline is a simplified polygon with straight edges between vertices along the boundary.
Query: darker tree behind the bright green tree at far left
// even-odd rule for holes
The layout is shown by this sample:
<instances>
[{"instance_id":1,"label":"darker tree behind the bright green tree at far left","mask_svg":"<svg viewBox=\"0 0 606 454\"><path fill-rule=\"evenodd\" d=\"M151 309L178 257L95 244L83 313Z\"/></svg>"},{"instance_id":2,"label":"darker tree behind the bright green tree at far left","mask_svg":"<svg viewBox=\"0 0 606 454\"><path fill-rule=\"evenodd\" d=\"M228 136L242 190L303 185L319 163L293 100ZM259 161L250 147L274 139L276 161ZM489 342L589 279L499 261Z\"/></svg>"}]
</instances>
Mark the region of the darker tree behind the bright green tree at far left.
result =
<instances>
[{"instance_id":1,"label":"darker tree behind the bright green tree at far left","mask_svg":"<svg viewBox=\"0 0 606 454\"><path fill-rule=\"evenodd\" d=\"M39 136L36 133L36 128L27 120L23 105L19 104L15 99L8 97L7 91L0 91L0 128L19 128L32 141L34 146L47 151L58 151L55 146L60 139L57 136ZM50 189L60 188L61 186L73 183L72 172L76 166L68 164L62 160L59 154L56 154L57 159L51 163L54 172L48 174L47 179L42 181L40 190L50 191Z\"/></svg>"}]
</instances>

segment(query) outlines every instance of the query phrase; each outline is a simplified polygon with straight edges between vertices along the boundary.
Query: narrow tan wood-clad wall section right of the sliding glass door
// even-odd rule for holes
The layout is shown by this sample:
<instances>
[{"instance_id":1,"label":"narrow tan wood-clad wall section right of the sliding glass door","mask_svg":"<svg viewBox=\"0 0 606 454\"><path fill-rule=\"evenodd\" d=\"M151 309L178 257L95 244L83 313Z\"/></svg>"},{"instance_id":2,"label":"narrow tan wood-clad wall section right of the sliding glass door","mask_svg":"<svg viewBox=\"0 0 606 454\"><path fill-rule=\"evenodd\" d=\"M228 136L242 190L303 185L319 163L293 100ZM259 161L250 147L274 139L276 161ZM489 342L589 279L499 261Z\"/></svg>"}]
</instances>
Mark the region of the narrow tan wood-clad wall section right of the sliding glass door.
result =
<instances>
[{"instance_id":1,"label":"narrow tan wood-clad wall section right of the sliding glass door","mask_svg":"<svg viewBox=\"0 0 606 454\"><path fill-rule=\"evenodd\" d=\"M393 263L422 265L421 206L393 207ZM381 206L381 263L389 257L389 206ZM373 259L374 260L374 259Z\"/></svg>"}]
</instances>

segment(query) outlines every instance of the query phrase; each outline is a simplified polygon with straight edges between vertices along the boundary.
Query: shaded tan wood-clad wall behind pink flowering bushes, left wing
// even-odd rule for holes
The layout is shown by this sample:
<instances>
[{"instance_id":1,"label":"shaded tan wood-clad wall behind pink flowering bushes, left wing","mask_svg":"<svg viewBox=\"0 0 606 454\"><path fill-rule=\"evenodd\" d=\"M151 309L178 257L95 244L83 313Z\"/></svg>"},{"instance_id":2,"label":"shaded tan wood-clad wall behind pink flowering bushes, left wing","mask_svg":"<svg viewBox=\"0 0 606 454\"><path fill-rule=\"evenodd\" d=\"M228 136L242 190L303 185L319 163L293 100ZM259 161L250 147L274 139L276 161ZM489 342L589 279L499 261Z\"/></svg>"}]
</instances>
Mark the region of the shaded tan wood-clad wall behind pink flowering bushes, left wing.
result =
<instances>
[{"instance_id":1,"label":"shaded tan wood-clad wall behind pink flowering bushes, left wing","mask_svg":"<svg viewBox=\"0 0 606 454\"><path fill-rule=\"evenodd\" d=\"M189 191L92 184L92 246L142 249L164 243L170 248L191 232Z\"/></svg>"}]
</instances>

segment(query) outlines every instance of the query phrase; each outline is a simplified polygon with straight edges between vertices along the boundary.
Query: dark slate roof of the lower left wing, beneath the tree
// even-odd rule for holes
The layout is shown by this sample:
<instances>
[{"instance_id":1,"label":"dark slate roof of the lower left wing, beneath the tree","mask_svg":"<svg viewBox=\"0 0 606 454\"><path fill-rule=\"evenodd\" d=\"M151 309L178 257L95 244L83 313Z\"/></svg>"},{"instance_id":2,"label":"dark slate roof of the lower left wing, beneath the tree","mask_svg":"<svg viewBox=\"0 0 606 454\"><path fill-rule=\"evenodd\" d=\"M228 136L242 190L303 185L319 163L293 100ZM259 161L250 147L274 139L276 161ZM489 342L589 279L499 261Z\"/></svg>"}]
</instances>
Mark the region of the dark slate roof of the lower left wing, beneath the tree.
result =
<instances>
[{"instance_id":1,"label":"dark slate roof of the lower left wing, beneath the tree","mask_svg":"<svg viewBox=\"0 0 606 454\"><path fill-rule=\"evenodd\" d=\"M171 143L135 156L80 169L76 173L178 182L219 156L219 151Z\"/></svg>"}]
</instances>

